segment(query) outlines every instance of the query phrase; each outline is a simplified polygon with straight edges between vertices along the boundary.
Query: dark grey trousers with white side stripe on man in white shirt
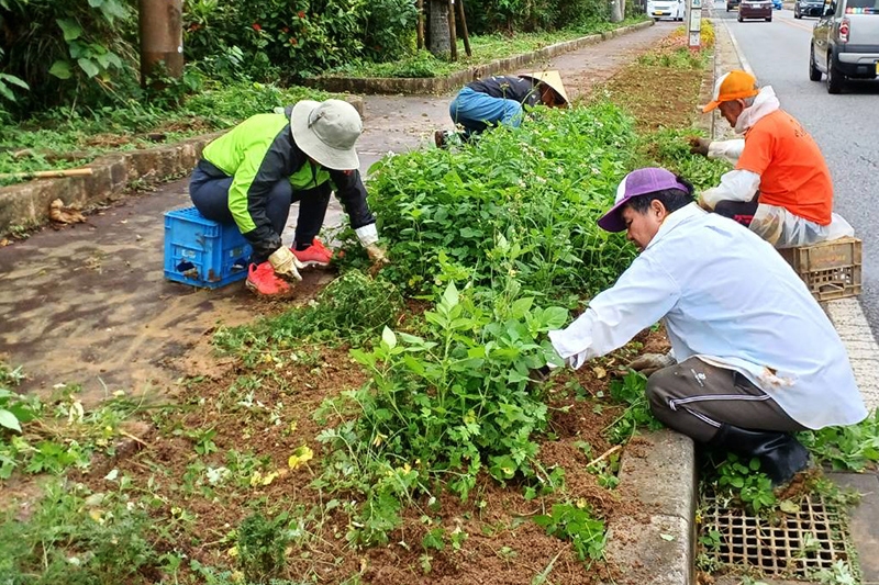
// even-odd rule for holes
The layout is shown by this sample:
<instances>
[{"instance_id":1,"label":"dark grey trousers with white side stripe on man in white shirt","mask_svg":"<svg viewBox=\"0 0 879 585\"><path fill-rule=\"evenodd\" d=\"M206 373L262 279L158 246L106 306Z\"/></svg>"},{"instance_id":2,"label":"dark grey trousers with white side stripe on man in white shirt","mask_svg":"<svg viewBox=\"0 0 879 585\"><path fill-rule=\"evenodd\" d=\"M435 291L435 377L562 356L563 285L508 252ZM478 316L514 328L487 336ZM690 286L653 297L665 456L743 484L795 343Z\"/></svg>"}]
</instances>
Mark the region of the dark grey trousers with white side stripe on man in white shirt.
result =
<instances>
[{"instance_id":1,"label":"dark grey trousers with white side stripe on man in white shirt","mask_svg":"<svg viewBox=\"0 0 879 585\"><path fill-rule=\"evenodd\" d=\"M724 423L753 430L805 430L747 378L699 358L654 372L647 398L656 418L701 442Z\"/></svg>"}]
</instances>

